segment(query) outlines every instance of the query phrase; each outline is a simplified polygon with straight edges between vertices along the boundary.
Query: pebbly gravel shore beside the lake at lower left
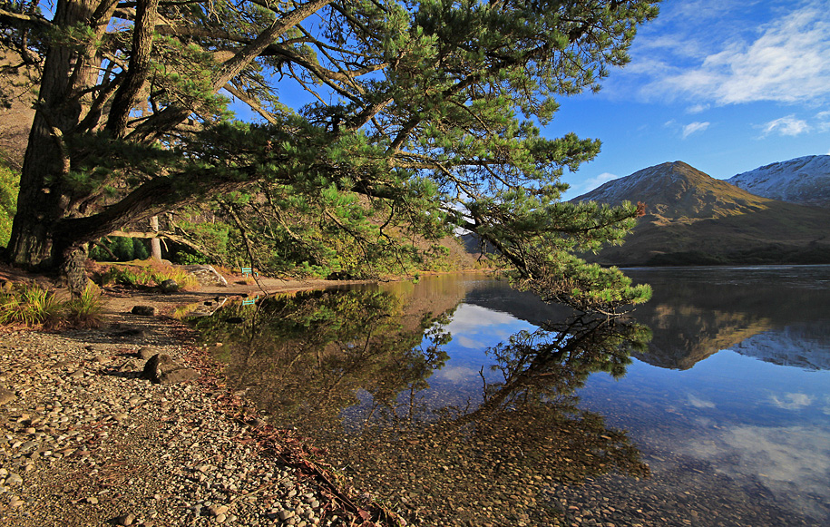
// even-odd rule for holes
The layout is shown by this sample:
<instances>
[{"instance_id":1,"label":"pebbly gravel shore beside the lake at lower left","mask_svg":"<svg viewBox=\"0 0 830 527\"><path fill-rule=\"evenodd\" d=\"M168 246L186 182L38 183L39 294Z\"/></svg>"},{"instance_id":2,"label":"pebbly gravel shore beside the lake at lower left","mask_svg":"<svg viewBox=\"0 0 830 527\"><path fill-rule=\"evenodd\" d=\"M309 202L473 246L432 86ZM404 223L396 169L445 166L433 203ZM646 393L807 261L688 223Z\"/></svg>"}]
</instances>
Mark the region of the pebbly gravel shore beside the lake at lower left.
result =
<instances>
[{"instance_id":1,"label":"pebbly gravel shore beside the lake at lower left","mask_svg":"<svg viewBox=\"0 0 830 527\"><path fill-rule=\"evenodd\" d=\"M155 354L200 378L152 384L142 368ZM167 317L0 334L0 524L371 525L379 509L219 371Z\"/></svg>"}]
</instances>

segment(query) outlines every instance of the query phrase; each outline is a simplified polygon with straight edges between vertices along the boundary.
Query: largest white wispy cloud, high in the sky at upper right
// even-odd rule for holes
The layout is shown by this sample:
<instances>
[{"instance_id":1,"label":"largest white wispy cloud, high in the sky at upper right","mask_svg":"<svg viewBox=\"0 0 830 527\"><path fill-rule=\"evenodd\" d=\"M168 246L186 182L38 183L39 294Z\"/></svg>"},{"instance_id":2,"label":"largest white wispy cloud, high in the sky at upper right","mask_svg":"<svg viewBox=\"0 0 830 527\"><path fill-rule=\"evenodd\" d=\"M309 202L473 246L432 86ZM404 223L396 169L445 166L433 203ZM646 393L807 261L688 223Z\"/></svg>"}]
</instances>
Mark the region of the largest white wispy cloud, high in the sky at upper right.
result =
<instances>
[{"instance_id":1,"label":"largest white wispy cloud, high in the sky at upper right","mask_svg":"<svg viewBox=\"0 0 830 527\"><path fill-rule=\"evenodd\" d=\"M655 37L643 47L647 54L657 48L658 58L638 64L653 79L645 92L718 104L817 102L830 95L830 10L823 2L747 29L736 28L727 33L733 40L721 42L715 29L705 32L714 42L702 40L702 31L683 44L674 41L686 34ZM695 46L708 50L705 56L693 56Z\"/></svg>"}]
</instances>

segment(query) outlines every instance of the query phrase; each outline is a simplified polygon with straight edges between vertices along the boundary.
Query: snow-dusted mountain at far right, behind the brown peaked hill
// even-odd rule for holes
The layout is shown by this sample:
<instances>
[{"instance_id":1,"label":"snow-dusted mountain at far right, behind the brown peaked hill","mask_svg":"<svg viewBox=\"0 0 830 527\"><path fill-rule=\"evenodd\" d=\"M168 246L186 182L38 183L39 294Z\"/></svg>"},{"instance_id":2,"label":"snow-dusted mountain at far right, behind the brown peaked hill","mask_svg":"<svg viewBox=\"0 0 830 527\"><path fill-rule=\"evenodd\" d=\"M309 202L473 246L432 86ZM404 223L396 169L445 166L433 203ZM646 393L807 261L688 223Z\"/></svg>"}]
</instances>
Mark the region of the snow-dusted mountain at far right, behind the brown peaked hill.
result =
<instances>
[{"instance_id":1,"label":"snow-dusted mountain at far right, behind the brown peaked hill","mask_svg":"<svg viewBox=\"0 0 830 527\"><path fill-rule=\"evenodd\" d=\"M743 190L804 205L830 205L830 155L772 163L727 180Z\"/></svg>"}]
</instances>

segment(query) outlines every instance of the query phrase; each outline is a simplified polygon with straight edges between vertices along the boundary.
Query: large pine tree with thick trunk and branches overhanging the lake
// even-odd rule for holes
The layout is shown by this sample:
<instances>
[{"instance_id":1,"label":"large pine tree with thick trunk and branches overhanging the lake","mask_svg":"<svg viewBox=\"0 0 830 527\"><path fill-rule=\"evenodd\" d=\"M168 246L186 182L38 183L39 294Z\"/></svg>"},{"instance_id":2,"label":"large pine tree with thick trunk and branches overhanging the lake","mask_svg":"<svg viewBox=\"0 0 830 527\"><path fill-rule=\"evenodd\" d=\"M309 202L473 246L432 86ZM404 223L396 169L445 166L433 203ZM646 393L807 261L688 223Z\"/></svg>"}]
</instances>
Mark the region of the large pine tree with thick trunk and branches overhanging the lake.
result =
<instances>
[{"instance_id":1,"label":"large pine tree with thick trunk and branches overhanging the lake","mask_svg":"<svg viewBox=\"0 0 830 527\"><path fill-rule=\"evenodd\" d=\"M57 0L47 20L5 2L5 45L43 71L7 257L70 269L85 243L216 195L335 204L336 224L359 195L386 226L474 231L542 298L641 300L571 256L638 215L559 201L561 171L600 143L539 126L628 61L656 4ZM315 102L292 107L289 85ZM230 97L261 122L235 121Z\"/></svg>"}]
</instances>

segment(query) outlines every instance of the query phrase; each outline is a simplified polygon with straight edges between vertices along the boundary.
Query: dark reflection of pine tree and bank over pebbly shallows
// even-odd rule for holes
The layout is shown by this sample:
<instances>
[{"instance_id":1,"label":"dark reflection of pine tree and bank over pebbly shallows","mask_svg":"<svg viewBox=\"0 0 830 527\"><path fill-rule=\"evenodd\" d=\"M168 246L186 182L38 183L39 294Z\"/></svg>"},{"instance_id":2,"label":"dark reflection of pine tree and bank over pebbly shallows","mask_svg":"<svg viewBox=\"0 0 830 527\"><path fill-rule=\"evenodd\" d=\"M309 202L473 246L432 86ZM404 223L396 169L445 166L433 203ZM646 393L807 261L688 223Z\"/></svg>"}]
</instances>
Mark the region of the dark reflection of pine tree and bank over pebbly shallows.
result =
<instances>
[{"instance_id":1,"label":"dark reflection of pine tree and bank over pebbly shallows","mask_svg":"<svg viewBox=\"0 0 830 527\"><path fill-rule=\"evenodd\" d=\"M649 474L627 434L575 395L591 373L623 376L647 327L582 315L520 332L487 350L501 375L482 372L481 398L463 407L427 383L447 359L451 311L407 324L394 296L329 291L269 300L241 327L199 327L225 343L232 382L274 425L312 436L356 486L415 523L551 522L552 483Z\"/></svg>"}]
</instances>

